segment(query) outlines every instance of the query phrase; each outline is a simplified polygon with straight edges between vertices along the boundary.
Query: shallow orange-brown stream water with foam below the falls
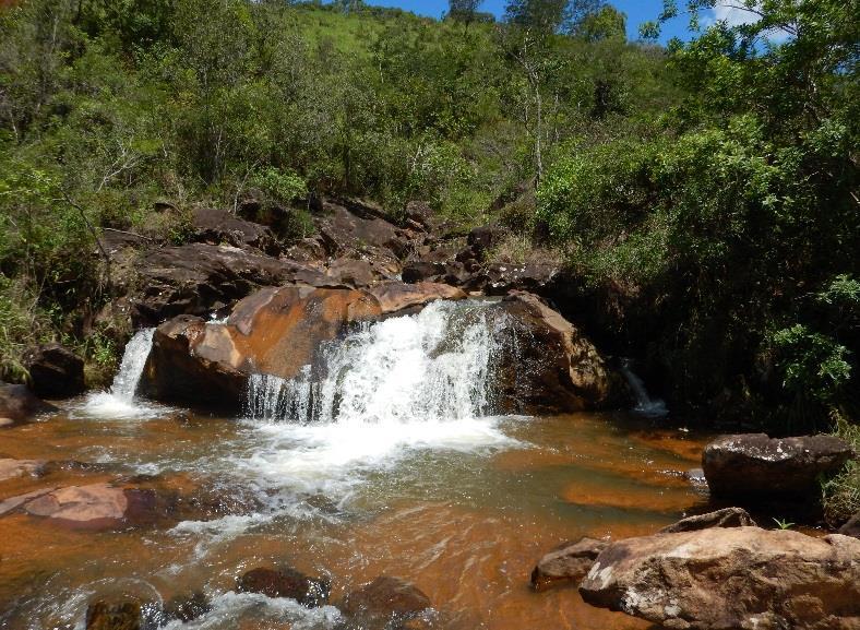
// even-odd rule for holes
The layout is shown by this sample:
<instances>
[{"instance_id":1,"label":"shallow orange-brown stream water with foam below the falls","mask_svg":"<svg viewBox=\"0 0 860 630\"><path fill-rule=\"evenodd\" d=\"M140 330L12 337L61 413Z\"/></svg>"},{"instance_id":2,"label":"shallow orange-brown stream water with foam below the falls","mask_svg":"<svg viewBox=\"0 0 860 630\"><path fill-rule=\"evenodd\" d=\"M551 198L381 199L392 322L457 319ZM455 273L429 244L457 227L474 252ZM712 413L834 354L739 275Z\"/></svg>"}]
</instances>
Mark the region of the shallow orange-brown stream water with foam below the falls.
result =
<instances>
[{"instance_id":1,"label":"shallow orange-brown stream water with foam below the falls","mask_svg":"<svg viewBox=\"0 0 860 630\"><path fill-rule=\"evenodd\" d=\"M105 480L180 497L164 522L121 532L0 518L4 628L82 628L97 597L193 591L215 609L171 628L332 627L333 607L232 592L244 571L282 562L331 576L333 602L380 574L404 578L429 595L440 628L645 628L573 587L533 593L529 572L563 540L652 533L706 500L681 476L706 437L622 414L396 426L154 405L126 416L95 414L88 399L0 432L2 456L99 464L0 482L0 500Z\"/></svg>"}]
</instances>

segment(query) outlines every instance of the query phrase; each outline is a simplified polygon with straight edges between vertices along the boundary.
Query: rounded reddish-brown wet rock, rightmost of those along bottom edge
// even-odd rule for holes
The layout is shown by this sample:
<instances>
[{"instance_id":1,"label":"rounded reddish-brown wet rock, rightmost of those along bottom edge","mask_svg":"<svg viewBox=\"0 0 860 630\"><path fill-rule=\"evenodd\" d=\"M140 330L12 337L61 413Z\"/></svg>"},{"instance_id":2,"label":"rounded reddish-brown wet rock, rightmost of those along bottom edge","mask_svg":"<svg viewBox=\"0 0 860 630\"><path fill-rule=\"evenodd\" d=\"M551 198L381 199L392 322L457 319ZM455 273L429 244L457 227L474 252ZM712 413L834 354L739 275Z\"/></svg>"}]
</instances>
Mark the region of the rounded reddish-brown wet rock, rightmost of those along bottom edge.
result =
<instances>
[{"instance_id":1,"label":"rounded reddish-brown wet rock, rightmost of those along bottom edge","mask_svg":"<svg viewBox=\"0 0 860 630\"><path fill-rule=\"evenodd\" d=\"M430 598L399 578L380 575L369 584L347 593L338 608L360 625L373 621L398 622L413 619L430 608Z\"/></svg>"}]
</instances>

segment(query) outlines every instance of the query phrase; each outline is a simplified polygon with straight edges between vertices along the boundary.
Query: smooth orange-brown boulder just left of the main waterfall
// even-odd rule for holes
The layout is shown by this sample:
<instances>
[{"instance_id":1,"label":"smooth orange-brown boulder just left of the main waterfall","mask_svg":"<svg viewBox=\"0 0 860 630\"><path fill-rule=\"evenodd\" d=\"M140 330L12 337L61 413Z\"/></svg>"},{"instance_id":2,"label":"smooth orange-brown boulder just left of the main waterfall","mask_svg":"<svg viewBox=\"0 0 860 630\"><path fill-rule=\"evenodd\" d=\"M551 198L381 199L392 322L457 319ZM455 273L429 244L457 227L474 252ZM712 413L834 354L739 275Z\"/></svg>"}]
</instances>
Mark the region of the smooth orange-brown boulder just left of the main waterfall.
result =
<instances>
[{"instance_id":1,"label":"smooth orange-brown boulder just left of the main waterfall","mask_svg":"<svg viewBox=\"0 0 860 630\"><path fill-rule=\"evenodd\" d=\"M465 295L445 286L399 283L371 290L264 288L239 301L225 324L180 316L158 326L142 390L158 400L236 409L249 375L290 379L314 364L322 342L350 324L443 297Z\"/></svg>"}]
</instances>

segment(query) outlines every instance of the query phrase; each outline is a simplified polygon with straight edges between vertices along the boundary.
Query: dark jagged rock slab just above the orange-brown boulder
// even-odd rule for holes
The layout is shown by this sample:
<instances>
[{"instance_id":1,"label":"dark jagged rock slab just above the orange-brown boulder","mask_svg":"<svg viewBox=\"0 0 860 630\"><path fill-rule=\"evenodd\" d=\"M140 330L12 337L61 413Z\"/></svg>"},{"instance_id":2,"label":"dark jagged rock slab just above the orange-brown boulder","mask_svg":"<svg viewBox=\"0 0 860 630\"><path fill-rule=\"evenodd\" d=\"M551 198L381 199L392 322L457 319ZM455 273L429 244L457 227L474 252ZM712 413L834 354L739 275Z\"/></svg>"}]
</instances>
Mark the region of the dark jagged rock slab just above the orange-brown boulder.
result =
<instances>
[{"instance_id":1,"label":"dark jagged rock slab just above the orange-brown boulder","mask_svg":"<svg viewBox=\"0 0 860 630\"><path fill-rule=\"evenodd\" d=\"M135 325L178 314L208 317L263 286L331 282L319 270L225 245L153 249L133 264L135 282L143 287L129 297Z\"/></svg>"}]
</instances>

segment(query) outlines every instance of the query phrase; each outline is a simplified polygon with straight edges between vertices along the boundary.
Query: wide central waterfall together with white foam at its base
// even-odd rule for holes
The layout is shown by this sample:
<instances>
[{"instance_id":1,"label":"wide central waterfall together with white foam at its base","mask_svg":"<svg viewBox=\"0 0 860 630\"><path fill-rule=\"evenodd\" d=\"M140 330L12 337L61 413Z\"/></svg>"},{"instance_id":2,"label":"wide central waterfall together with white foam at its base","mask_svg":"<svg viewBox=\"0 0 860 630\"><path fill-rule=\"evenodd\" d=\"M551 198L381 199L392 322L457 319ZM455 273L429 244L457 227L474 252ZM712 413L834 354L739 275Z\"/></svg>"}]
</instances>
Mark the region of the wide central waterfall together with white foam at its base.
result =
<instances>
[{"instance_id":1,"label":"wide central waterfall together with white foam at its base","mask_svg":"<svg viewBox=\"0 0 860 630\"><path fill-rule=\"evenodd\" d=\"M270 487L344 497L360 473L409 451L516 442L492 413L498 322L481 302L438 301L366 325L291 380L250 379L248 416L262 443L237 469Z\"/></svg>"}]
</instances>

